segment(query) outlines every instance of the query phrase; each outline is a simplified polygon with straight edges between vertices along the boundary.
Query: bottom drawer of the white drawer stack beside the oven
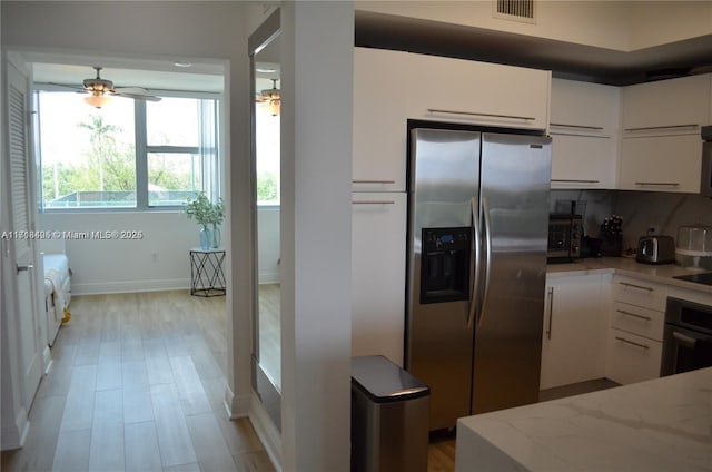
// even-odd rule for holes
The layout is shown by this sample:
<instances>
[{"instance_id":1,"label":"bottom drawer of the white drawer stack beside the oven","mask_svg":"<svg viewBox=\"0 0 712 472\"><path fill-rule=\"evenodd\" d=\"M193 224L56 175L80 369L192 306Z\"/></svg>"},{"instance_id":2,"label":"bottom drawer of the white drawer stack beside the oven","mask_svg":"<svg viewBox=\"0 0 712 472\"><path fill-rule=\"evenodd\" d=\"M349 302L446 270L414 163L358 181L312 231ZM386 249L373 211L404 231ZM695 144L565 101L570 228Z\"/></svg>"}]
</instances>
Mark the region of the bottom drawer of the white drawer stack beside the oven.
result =
<instances>
[{"instance_id":1,"label":"bottom drawer of the white drawer stack beside the oven","mask_svg":"<svg viewBox=\"0 0 712 472\"><path fill-rule=\"evenodd\" d=\"M620 384L660 377L662 343L611 328L609 330L606 377Z\"/></svg>"}]
</instances>

